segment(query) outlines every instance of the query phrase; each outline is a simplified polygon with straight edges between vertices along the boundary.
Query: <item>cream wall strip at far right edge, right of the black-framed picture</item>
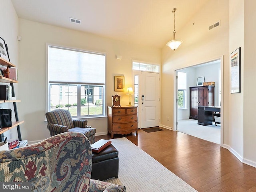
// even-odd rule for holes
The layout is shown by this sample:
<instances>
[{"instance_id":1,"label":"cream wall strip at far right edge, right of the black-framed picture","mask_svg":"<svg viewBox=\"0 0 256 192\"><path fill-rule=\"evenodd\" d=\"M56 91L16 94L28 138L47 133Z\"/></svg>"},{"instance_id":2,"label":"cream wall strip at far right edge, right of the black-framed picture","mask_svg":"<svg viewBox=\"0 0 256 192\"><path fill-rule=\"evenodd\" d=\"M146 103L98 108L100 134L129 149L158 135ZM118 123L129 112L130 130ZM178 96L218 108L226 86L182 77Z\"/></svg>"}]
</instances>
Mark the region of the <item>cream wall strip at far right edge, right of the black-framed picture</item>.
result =
<instances>
[{"instance_id":1,"label":"cream wall strip at far right edge, right of the black-framed picture","mask_svg":"<svg viewBox=\"0 0 256 192\"><path fill-rule=\"evenodd\" d=\"M242 0L241 0L242 1ZM256 1L244 0L244 162L256 167L256 121L255 121L255 31ZM240 101L239 101L240 102Z\"/></svg>"}]
</instances>

